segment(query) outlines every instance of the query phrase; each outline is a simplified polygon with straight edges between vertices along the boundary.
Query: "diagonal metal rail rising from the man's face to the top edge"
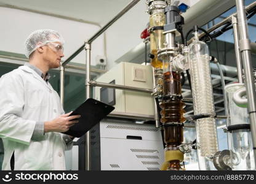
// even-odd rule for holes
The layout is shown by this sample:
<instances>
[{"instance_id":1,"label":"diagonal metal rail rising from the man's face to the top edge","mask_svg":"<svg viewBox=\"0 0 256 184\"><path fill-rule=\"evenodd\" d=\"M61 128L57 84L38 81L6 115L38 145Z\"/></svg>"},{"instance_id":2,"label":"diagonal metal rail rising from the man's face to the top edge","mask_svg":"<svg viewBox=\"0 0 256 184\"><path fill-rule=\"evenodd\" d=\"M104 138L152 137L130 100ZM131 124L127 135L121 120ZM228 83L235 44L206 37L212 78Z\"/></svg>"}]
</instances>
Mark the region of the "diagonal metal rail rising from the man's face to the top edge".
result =
<instances>
[{"instance_id":1,"label":"diagonal metal rail rising from the man's face to the top edge","mask_svg":"<svg viewBox=\"0 0 256 184\"><path fill-rule=\"evenodd\" d=\"M97 33L94 34L94 36L92 36L87 43L88 44L92 44L92 42L97 39L98 36L100 36L104 31L106 31L106 29L108 29L111 25L113 25L113 23L118 20L120 17L122 17L122 15L124 15L124 13L128 12L132 7L135 6L135 4L138 3L138 1L140 0L133 0L130 1L129 4L127 4L126 7L124 7L124 9L122 9L118 15L116 15L114 18L112 18L108 23L106 23L105 26L103 26L100 30L98 30ZM66 64L68 64L68 62L70 62L75 56L77 56L80 52L82 52L82 50L84 49L84 45L82 45L80 48L78 48L78 50L76 50L76 52L73 53L73 55L71 55L70 57L68 57L68 59L66 59L66 61L63 62L63 66L65 67Z\"/></svg>"}]
</instances>

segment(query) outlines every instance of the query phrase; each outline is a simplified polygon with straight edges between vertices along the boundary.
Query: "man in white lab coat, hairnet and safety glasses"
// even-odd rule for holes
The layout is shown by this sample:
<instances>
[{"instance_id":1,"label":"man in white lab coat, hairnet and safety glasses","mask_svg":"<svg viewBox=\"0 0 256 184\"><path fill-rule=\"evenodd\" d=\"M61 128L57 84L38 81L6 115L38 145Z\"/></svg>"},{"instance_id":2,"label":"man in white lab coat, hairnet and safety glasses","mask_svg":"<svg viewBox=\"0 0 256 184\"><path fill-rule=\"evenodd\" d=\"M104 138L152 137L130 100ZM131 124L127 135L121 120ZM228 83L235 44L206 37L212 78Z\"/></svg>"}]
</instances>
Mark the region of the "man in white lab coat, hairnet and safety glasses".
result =
<instances>
[{"instance_id":1,"label":"man in white lab coat, hairnet and safety glasses","mask_svg":"<svg viewBox=\"0 0 256 184\"><path fill-rule=\"evenodd\" d=\"M57 31L34 31L25 42L30 62L0 79L2 170L65 170L64 151L73 137L60 132L80 116L64 113L47 73L60 66L63 43Z\"/></svg>"}]
</instances>

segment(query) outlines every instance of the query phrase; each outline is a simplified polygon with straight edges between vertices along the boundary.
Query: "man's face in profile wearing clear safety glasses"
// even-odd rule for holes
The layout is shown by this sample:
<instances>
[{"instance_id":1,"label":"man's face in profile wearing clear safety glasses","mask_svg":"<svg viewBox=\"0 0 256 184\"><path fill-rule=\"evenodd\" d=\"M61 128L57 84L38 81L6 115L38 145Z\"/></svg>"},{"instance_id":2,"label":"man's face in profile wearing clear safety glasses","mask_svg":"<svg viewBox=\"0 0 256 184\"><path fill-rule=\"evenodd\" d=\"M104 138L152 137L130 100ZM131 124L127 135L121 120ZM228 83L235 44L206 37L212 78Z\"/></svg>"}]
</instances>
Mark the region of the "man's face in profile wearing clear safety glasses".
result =
<instances>
[{"instance_id":1,"label":"man's face in profile wearing clear safety glasses","mask_svg":"<svg viewBox=\"0 0 256 184\"><path fill-rule=\"evenodd\" d=\"M44 59L49 64L49 69L60 66L63 55L63 46L60 42L50 42L45 45L46 53Z\"/></svg>"}]
</instances>

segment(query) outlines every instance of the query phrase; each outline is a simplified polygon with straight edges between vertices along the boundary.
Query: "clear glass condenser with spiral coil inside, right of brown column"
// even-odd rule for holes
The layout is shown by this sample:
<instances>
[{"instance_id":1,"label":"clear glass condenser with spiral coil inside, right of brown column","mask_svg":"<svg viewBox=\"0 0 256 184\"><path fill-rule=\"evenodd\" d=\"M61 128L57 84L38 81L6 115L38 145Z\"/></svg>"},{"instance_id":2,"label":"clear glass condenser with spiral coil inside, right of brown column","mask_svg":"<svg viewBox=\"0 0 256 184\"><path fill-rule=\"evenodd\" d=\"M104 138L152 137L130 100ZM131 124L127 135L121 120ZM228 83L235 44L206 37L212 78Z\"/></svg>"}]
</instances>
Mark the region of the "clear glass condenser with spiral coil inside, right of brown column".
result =
<instances>
[{"instance_id":1,"label":"clear glass condenser with spiral coil inside, right of brown column","mask_svg":"<svg viewBox=\"0 0 256 184\"><path fill-rule=\"evenodd\" d=\"M211 158L218 151L214 98L210 77L209 49L195 34L190 44L190 74L194 115L207 113L209 118L196 120L196 134L201 156Z\"/></svg>"}]
</instances>

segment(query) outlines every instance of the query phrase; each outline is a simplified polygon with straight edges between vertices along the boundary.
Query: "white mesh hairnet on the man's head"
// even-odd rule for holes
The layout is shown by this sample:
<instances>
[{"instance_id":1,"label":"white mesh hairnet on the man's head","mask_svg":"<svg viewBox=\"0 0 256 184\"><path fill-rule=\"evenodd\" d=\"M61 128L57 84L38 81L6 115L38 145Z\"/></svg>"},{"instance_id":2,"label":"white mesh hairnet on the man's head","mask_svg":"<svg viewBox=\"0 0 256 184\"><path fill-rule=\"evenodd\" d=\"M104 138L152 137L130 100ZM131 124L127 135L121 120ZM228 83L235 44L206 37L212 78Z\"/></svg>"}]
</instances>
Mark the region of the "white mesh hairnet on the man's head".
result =
<instances>
[{"instance_id":1,"label":"white mesh hairnet on the man's head","mask_svg":"<svg viewBox=\"0 0 256 184\"><path fill-rule=\"evenodd\" d=\"M29 58L30 54L34 52L36 48L42 47L49 42L60 42L63 45L64 39L54 30L39 29L34 31L25 41L25 56Z\"/></svg>"}]
</instances>

